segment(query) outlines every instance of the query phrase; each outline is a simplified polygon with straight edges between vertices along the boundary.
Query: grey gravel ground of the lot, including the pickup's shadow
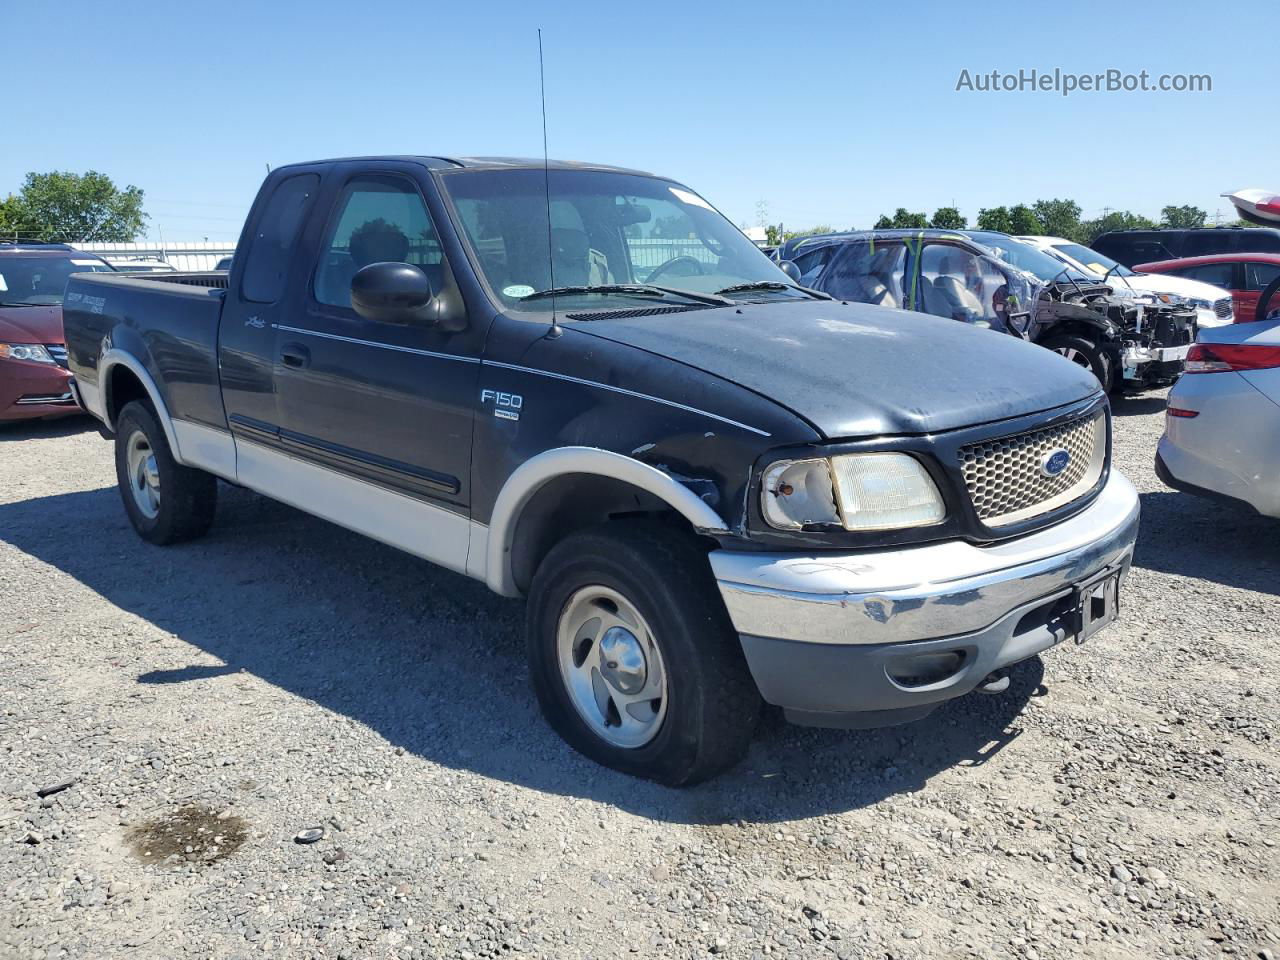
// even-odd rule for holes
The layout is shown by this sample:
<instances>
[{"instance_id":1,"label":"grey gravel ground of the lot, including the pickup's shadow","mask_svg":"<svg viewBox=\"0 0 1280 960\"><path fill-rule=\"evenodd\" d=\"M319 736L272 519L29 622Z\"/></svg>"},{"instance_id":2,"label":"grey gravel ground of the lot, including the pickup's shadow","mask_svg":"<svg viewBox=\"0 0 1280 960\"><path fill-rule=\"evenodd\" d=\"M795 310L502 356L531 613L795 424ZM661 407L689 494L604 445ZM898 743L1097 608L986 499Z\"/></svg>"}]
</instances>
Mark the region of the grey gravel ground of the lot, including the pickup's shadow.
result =
<instances>
[{"instance_id":1,"label":"grey gravel ground of the lot, including the pickup's shadow","mask_svg":"<svg viewBox=\"0 0 1280 960\"><path fill-rule=\"evenodd\" d=\"M84 421L0 430L0 956L1280 957L1280 524L1162 407L1119 625L686 791L543 724L517 603L234 488L147 547Z\"/></svg>"}]
</instances>

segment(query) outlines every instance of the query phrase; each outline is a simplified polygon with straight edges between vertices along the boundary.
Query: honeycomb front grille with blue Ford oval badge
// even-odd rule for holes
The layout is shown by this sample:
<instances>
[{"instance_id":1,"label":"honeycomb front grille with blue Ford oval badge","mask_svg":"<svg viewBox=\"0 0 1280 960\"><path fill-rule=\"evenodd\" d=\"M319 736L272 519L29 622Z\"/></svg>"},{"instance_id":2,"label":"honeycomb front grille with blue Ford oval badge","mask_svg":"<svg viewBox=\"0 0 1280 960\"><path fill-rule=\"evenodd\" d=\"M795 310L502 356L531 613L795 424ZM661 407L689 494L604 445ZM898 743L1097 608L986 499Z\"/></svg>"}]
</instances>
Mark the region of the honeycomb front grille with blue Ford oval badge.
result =
<instances>
[{"instance_id":1,"label":"honeycomb front grille with blue Ford oval badge","mask_svg":"<svg viewBox=\"0 0 1280 960\"><path fill-rule=\"evenodd\" d=\"M1057 451L1066 451L1070 460L1062 472L1050 476L1044 465ZM1101 412L970 443L957 453L974 509L991 527L1030 520L1079 499L1102 476L1106 456L1107 421Z\"/></svg>"}]
</instances>

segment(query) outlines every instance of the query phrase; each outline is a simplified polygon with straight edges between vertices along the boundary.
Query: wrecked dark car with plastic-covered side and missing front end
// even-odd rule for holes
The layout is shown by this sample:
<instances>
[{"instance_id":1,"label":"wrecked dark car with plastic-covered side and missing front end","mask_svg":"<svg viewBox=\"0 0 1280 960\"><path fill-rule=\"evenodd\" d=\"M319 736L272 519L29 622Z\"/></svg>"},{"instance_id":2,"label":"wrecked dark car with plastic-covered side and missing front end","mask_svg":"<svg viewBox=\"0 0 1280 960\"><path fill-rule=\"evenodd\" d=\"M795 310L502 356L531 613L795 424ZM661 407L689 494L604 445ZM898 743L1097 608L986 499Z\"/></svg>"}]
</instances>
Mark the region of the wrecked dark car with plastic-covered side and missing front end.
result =
<instances>
[{"instance_id":1,"label":"wrecked dark car with plastic-covered side and missing front end","mask_svg":"<svg viewBox=\"0 0 1280 960\"><path fill-rule=\"evenodd\" d=\"M1032 340L1108 392L1166 387L1196 340L1196 311L1117 292L1032 244L989 230L864 230L796 237L778 259L844 301L959 320ZM785 266L785 269L788 269Z\"/></svg>"}]
</instances>

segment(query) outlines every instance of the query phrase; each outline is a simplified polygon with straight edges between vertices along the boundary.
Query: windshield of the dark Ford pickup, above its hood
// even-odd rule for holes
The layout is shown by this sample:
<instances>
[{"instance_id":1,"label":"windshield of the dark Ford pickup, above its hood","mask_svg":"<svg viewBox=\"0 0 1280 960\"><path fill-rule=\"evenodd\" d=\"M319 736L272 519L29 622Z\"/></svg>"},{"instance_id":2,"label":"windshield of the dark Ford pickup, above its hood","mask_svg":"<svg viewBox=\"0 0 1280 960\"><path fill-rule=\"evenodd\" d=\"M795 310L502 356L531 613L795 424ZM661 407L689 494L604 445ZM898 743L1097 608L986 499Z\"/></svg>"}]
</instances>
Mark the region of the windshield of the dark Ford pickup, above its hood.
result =
<instances>
[{"instance_id":1,"label":"windshield of the dark Ford pickup, above its hood","mask_svg":"<svg viewBox=\"0 0 1280 960\"><path fill-rule=\"evenodd\" d=\"M733 296L806 298L741 230L685 187L639 174L553 169L548 229L545 177L540 169L506 169L440 178L484 279L508 307L549 311L549 298L535 294L553 287L612 287L561 297L594 308L605 298L605 308L628 308L680 302L680 291L714 294L758 283L769 287ZM626 285L631 289L618 289Z\"/></svg>"}]
</instances>

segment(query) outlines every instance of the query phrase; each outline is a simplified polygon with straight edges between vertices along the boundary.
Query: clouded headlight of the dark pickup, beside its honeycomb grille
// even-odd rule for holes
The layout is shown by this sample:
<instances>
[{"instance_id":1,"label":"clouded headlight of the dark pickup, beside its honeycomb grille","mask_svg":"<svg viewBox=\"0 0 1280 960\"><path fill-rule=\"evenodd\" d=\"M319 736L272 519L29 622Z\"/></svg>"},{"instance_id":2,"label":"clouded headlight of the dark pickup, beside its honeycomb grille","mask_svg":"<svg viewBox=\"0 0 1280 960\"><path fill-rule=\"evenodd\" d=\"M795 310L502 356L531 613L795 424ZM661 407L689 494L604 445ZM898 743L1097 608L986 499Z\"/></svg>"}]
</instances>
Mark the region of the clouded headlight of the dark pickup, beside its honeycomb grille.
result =
<instances>
[{"instance_id":1,"label":"clouded headlight of the dark pickup, beside its honeycomb grille","mask_svg":"<svg viewBox=\"0 0 1280 960\"><path fill-rule=\"evenodd\" d=\"M905 453L783 460L764 471L760 509L771 526L900 530L941 524L946 506L920 461Z\"/></svg>"}]
</instances>

